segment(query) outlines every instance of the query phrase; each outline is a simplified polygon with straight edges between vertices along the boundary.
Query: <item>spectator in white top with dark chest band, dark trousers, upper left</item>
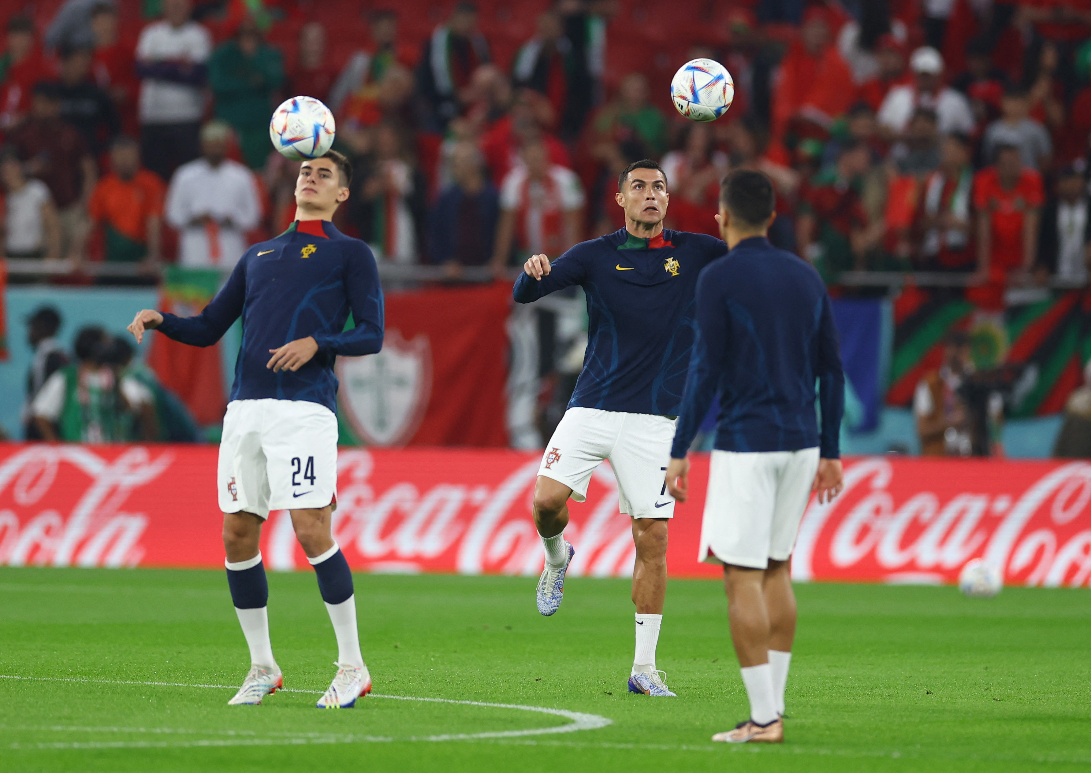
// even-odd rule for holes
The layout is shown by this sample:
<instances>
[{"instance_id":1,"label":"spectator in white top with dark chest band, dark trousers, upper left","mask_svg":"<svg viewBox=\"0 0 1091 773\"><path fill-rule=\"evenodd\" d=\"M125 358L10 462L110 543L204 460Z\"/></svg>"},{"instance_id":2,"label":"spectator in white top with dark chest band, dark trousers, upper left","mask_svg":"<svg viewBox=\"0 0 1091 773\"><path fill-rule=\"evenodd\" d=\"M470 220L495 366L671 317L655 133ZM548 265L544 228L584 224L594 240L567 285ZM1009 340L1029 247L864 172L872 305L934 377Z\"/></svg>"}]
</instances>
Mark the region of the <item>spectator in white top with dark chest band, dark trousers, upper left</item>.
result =
<instances>
[{"instance_id":1,"label":"spectator in white top with dark chest band, dark trousers, upper left","mask_svg":"<svg viewBox=\"0 0 1091 773\"><path fill-rule=\"evenodd\" d=\"M200 154L212 35L190 10L190 0L163 0L163 21L144 27L136 44L141 156L164 180Z\"/></svg>"}]
</instances>

